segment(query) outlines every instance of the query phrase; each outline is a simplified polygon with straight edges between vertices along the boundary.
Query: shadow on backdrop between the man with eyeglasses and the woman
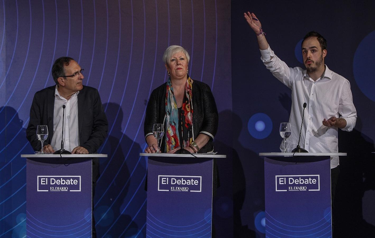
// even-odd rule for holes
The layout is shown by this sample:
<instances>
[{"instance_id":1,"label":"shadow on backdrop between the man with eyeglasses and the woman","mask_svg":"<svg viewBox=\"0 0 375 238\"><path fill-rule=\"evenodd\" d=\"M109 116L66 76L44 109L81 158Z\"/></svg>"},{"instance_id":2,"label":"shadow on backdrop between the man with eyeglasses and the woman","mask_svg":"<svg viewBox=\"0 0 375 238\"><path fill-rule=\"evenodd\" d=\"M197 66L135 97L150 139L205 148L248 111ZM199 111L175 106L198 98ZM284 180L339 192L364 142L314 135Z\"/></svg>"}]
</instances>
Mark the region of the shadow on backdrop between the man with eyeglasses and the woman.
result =
<instances>
[{"instance_id":1,"label":"shadow on backdrop between the man with eyeglasses and the woman","mask_svg":"<svg viewBox=\"0 0 375 238\"><path fill-rule=\"evenodd\" d=\"M108 154L108 158L100 160L101 175L94 200L96 230L103 237L135 236L146 222L146 192L142 187L146 164L139 157L139 144L122 132L120 105L109 102L103 107L108 119L108 138L99 153Z\"/></svg>"}]
</instances>

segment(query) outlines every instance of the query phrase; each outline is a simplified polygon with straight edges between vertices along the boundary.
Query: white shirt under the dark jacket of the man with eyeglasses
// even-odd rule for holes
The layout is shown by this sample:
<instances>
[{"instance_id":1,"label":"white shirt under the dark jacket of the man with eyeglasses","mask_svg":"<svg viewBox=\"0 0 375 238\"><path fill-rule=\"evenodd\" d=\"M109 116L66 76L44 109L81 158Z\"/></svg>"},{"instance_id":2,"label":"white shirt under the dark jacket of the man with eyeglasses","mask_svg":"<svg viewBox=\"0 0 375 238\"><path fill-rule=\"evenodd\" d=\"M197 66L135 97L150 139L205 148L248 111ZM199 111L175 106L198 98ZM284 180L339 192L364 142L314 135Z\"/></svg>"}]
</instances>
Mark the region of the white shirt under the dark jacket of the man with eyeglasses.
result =
<instances>
[{"instance_id":1,"label":"white shirt under the dark jacket of the man with eyeglasses","mask_svg":"<svg viewBox=\"0 0 375 238\"><path fill-rule=\"evenodd\" d=\"M79 145L78 141L78 93L74 93L69 100L66 100L55 89L55 104L53 111L53 135L51 146L56 151L61 148L61 136L63 127L63 105L64 113L64 146L67 151L72 151Z\"/></svg>"}]
</instances>

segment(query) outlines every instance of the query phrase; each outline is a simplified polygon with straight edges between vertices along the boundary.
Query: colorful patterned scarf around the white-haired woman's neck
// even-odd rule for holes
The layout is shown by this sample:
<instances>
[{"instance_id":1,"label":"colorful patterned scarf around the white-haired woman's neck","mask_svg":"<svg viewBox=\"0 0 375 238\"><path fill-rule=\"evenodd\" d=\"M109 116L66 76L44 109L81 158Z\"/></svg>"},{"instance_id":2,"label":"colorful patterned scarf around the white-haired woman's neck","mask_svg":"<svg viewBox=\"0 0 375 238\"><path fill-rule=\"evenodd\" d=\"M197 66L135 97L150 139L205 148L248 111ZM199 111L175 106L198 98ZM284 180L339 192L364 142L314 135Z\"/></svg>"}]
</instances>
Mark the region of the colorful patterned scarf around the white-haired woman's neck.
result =
<instances>
[{"instance_id":1,"label":"colorful patterned scarf around the white-haired woman's neck","mask_svg":"<svg viewBox=\"0 0 375 238\"><path fill-rule=\"evenodd\" d=\"M178 147L186 148L193 142L193 110L192 110L192 79L187 76L185 95L182 101L181 124L182 142L180 142L180 132L178 131L178 108L173 94L171 78L166 83L165 112L166 112L166 136L165 152ZM181 146L182 145L182 146Z\"/></svg>"}]
</instances>

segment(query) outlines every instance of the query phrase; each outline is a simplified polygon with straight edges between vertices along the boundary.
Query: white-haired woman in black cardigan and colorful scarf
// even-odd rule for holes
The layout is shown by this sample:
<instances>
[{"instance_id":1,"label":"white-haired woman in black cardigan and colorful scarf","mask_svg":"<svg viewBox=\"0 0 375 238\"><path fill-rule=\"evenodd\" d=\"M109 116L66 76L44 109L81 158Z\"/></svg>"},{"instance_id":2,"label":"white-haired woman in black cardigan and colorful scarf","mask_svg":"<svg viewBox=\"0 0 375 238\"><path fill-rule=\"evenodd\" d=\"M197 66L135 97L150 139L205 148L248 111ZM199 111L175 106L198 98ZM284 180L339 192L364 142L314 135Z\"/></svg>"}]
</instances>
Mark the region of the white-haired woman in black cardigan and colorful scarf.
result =
<instances>
[{"instance_id":1,"label":"white-haired woman in black cardigan and colorful scarf","mask_svg":"<svg viewBox=\"0 0 375 238\"><path fill-rule=\"evenodd\" d=\"M188 73L189 53L178 45L169 46L163 61L168 81L153 90L148 100L144 122L146 153L190 153L213 151L218 113L210 87L192 80ZM161 144L153 136L153 124L163 124ZM185 151L186 152L186 151Z\"/></svg>"}]
</instances>

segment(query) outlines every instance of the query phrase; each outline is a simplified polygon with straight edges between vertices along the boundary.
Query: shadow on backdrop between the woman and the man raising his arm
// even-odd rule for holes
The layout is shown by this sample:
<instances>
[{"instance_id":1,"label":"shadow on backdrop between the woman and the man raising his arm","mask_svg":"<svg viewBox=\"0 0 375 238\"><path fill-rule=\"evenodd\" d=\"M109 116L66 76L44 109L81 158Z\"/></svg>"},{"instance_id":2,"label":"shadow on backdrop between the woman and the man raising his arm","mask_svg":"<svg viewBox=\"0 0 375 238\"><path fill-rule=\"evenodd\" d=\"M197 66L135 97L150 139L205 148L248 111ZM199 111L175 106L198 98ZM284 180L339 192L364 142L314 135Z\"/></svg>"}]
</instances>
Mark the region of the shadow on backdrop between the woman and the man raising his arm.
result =
<instances>
[{"instance_id":1,"label":"shadow on backdrop between the woman and the man raising his arm","mask_svg":"<svg viewBox=\"0 0 375 238\"><path fill-rule=\"evenodd\" d=\"M218 133L215 137L215 147L219 154L226 154L227 160L233 163L233 231L234 237L256 237L255 217L258 212L264 211L264 162L255 152L244 148L238 141L242 127L242 120L230 110L225 110L219 114L219 123L227 127L227 122L231 122L233 127L229 127L224 133ZM232 136L232 143L229 143ZM231 147L230 145L235 145ZM228 156L229 155L229 156ZM223 187L222 174L228 167L219 165L220 190ZM245 173L246 170L246 173ZM216 219L217 220L217 219ZM217 224L214 217L214 223ZM217 227L217 225L216 225ZM228 237L217 234L217 237Z\"/></svg>"}]
</instances>

